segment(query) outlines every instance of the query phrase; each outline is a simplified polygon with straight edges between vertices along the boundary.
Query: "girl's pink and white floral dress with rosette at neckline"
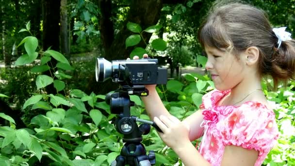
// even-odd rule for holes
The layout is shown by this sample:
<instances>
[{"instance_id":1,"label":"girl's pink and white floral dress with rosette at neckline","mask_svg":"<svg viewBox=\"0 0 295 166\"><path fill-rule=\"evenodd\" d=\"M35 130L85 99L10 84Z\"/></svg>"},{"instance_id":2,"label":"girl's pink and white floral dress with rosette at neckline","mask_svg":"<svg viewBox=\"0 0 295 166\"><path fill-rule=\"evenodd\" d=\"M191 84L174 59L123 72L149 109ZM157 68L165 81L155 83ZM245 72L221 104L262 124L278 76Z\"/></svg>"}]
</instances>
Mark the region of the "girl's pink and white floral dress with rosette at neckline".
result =
<instances>
[{"instance_id":1,"label":"girl's pink and white floral dress with rosette at neckline","mask_svg":"<svg viewBox=\"0 0 295 166\"><path fill-rule=\"evenodd\" d=\"M225 146L235 145L259 151L255 166L261 166L279 136L276 117L260 102L247 101L240 106L218 106L230 90L213 90L203 96L204 135L200 154L212 166L220 166Z\"/></svg>"}]
</instances>

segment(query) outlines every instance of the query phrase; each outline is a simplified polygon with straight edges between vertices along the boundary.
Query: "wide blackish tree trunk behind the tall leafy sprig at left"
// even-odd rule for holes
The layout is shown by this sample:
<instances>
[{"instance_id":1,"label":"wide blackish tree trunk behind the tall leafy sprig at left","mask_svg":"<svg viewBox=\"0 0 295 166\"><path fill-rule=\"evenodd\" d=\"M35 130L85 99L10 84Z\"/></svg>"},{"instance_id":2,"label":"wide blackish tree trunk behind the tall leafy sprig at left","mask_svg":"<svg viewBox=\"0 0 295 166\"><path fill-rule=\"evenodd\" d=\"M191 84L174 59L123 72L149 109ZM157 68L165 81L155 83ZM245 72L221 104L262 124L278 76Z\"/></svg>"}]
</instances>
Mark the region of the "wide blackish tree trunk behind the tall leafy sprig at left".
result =
<instances>
[{"instance_id":1,"label":"wide blackish tree trunk behind the tall leafy sprig at left","mask_svg":"<svg viewBox=\"0 0 295 166\"><path fill-rule=\"evenodd\" d=\"M42 48L43 50L60 50L60 41L59 41L59 22L60 22L60 0L42 0L42 13L43 13L43 37L42 37ZM51 58L50 67L53 68L56 66L57 61L54 58ZM53 77L51 73L54 71L46 71L44 74L49 77ZM56 94L56 89L51 83L49 86L46 86L46 91L48 94Z\"/></svg>"}]
</instances>

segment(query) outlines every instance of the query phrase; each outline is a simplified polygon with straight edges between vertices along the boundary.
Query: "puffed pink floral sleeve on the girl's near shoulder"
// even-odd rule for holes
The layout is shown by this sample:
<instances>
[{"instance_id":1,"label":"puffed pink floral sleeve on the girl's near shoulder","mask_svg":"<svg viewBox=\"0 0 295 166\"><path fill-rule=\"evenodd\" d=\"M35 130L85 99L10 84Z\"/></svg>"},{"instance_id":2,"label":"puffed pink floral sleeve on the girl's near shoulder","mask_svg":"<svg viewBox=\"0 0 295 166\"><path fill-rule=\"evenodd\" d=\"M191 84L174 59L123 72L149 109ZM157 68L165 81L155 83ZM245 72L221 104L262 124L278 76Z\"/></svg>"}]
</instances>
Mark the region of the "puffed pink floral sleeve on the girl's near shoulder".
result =
<instances>
[{"instance_id":1,"label":"puffed pink floral sleeve on the girl's near shoulder","mask_svg":"<svg viewBox=\"0 0 295 166\"><path fill-rule=\"evenodd\" d=\"M223 145L241 146L265 156L277 143L279 131L272 110L259 102L248 101L224 119Z\"/></svg>"}]
</instances>

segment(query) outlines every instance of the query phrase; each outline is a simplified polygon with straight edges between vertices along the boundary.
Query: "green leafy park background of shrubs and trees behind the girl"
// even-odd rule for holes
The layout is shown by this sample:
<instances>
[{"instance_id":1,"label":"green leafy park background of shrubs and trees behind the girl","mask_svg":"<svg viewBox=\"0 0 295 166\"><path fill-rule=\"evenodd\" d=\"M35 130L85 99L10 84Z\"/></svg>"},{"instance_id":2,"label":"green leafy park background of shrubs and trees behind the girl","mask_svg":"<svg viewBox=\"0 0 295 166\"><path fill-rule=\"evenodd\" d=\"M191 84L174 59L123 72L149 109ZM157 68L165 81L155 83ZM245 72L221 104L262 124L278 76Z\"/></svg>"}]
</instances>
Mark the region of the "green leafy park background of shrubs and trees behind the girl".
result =
<instances>
[{"instance_id":1,"label":"green leafy park background of shrubs and trees behind the girl","mask_svg":"<svg viewBox=\"0 0 295 166\"><path fill-rule=\"evenodd\" d=\"M295 0L244 1L295 36ZM0 166L111 164L124 143L105 96L118 84L96 82L98 57L158 58L169 71L167 84L157 86L167 110L179 119L196 112L214 88L197 40L212 2L0 0ZM196 70L181 72L189 67ZM274 89L264 78L262 87L279 127L263 166L295 166L295 82ZM131 115L148 120L140 97L130 98ZM155 129L142 143L155 151L156 166L181 165Z\"/></svg>"}]
</instances>

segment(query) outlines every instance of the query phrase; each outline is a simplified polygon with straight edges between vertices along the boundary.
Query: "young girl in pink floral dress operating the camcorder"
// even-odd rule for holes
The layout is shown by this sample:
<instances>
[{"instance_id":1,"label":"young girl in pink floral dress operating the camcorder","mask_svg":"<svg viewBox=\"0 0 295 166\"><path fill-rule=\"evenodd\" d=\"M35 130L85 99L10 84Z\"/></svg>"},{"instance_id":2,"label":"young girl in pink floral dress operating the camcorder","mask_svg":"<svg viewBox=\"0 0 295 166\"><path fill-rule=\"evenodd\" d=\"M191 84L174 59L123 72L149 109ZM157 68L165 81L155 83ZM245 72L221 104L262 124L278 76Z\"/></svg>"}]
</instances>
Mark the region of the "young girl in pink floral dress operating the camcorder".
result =
<instances>
[{"instance_id":1,"label":"young girl in pink floral dress operating the camcorder","mask_svg":"<svg viewBox=\"0 0 295 166\"><path fill-rule=\"evenodd\" d=\"M242 3L214 4L199 29L216 90L202 98L200 111L183 121L171 116L155 85L142 100L148 115L185 166L260 166L278 139L275 114L261 79L294 79L295 41L273 29L266 14ZM147 57L147 55L144 55ZM197 150L191 141L203 136Z\"/></svg>"}]
</instances>

